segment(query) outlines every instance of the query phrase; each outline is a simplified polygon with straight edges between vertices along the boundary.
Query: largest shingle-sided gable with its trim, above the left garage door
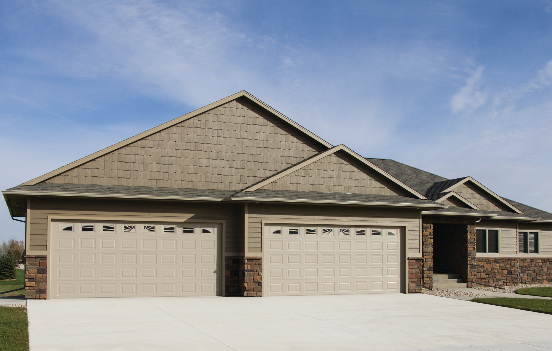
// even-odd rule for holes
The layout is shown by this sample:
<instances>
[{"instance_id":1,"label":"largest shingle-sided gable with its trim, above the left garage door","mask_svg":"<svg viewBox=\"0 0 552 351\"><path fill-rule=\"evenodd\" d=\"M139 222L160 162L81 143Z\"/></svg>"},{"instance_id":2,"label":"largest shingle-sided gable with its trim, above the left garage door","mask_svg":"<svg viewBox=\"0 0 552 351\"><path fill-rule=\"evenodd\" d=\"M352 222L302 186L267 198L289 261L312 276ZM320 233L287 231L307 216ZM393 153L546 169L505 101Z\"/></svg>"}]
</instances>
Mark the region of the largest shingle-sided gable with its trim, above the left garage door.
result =
<instances>
[{"instance_id":1,"label":"largest shingle-sided gable with its trim, above the left garage door","mask_svg":"<svg viewBox=\"0 0 552 351\"><path fill-rule=\"evenodd\" d=\"M242 94L115 150L105 149L104 155L84 158L60 174L43 176L52 175L49 179L25 184L239 190L328 148L305 131Z\"/></svg>"}]
</instances>

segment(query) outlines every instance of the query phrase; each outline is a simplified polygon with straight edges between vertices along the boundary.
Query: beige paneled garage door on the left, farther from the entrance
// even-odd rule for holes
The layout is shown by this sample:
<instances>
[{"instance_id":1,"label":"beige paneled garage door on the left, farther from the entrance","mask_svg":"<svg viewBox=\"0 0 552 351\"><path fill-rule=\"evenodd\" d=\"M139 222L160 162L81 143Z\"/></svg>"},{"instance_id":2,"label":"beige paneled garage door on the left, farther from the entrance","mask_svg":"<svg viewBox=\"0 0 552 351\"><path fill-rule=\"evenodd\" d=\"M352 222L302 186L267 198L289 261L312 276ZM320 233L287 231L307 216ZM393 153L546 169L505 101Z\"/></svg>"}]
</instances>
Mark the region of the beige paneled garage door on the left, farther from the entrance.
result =
<instances>
[{"instance_id":1,"label":"beige paneled garage door on the left, farther from the entrance","mask_svg":"<svg viewBox=\"0 0 552 351\"><path fill-rule=\"evenodd\" d=\"M205 224L51 224L50 298L220 295L220 228Z\"/></svg>"}]
</instances>

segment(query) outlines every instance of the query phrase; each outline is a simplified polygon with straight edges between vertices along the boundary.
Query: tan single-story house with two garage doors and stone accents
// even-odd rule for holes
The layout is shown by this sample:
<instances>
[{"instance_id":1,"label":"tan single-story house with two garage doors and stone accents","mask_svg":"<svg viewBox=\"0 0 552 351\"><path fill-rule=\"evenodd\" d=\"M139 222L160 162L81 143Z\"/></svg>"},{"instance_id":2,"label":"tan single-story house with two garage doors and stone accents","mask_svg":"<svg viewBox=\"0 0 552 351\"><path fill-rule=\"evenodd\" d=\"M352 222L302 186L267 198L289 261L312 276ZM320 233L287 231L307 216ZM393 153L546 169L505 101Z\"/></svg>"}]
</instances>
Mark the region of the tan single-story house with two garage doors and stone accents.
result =
<instances>
[{"instance_id":1,"label":"tan single-story house with two garage doors and stone accents","mask_svg":"<svg viewBox=\"0 0 552 351\"><path fill-rule=\"evenodd\" d=\"M332 146L247 92L2 193L26 217L28 299L408 293L552 275L552 214L471 177Z\"/></svg>"}]
</instances>

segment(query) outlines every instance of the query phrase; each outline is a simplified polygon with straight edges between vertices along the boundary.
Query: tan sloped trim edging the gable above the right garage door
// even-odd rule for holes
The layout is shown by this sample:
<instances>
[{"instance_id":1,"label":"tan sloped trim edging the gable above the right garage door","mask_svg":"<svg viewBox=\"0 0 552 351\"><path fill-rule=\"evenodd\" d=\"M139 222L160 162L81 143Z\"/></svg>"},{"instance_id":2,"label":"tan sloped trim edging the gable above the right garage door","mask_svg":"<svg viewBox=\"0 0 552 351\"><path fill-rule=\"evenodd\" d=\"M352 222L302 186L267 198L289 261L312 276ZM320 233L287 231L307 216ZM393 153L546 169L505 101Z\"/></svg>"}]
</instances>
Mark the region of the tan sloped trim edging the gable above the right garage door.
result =
<instances>
[{"instance_id":1,"label":"tan sloped trim edging the gable above the right garage door","mask_svg":"<svg viewBox=\"0 0 552 351\"><path fill-rule=\"evenodd\" d=\"M275 180L278 180L282 177L285 177L286 175L288 174L291 174L295 171L298 171L299 169L303 168L303 167L306 167L308 166L309 164L313 163L313 162L316 162L316 161L319 161L320 159L328 156L328 155L332 155L333 153L336 153L338 151L344 151L346 152L349 156L352 156L354 157L355 159L358 159L358 161L362 162L363 164L365 164L365 166L369 167L370 169L372 169L373 171L383 175L384 178L386 179L389 179L391 180L391 182L399 185L399 187L401 187L402 189L405 189L407 192L411 193L412 195L416 196L418 199L427 199L425 196L423 196L422 194L418 193L416 190L412 189L411 187L408 187L408 185L406 185L405 183L401 182L399 179L393 177L391 174L383 171L383 169L379 168L378 166L376 166L374 163L371 163L370 161L368 161L367 159L365 159L364 157L358 155L358 153L352 151L350 148L348 148L347 146L341 144L341 145L337 145L337 146L334 146L332 148L329 148L328 150L325 150L325 151L322 151L322 152L319 152L317 153L316 155L313 155L307 159L304 159L303 161L299 162L299 163L296 163L294 164L293 166L291 167L288 167L286 169L284 169L283 171L280 171L278 173L275 173L273 175L270 175L270 177L267 177L263 180L261 180L260 182L256 183L256 184L253 184L251 185L250 187L247 187L245 189L243 189L243 192L254 192L255 190L257 189L260 189L264 186L266 186L267 184L270 184L272 182L274 182Z\"/></svg>"}]
</instances>

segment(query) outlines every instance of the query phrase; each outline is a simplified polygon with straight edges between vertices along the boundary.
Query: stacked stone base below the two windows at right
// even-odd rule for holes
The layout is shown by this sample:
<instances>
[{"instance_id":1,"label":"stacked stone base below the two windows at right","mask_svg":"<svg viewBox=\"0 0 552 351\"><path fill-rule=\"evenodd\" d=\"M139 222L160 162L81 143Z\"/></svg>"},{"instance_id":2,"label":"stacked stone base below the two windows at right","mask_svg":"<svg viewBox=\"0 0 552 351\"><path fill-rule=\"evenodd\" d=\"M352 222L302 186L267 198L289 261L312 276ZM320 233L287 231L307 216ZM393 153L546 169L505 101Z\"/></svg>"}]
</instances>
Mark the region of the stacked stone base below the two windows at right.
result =
<instances>
[{"instance_id":1,"label":"stacked stone base below the two windows at right","mask_svg":"<svg viewBox=\"0 0 552 351\"><path fill-rule=\"evenodd\" d=\"M477 258L477 283L490 285L549 284L552 258Z\"/></svg>"}]
</instances>

